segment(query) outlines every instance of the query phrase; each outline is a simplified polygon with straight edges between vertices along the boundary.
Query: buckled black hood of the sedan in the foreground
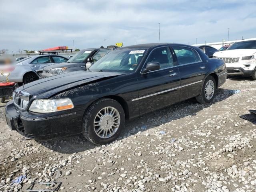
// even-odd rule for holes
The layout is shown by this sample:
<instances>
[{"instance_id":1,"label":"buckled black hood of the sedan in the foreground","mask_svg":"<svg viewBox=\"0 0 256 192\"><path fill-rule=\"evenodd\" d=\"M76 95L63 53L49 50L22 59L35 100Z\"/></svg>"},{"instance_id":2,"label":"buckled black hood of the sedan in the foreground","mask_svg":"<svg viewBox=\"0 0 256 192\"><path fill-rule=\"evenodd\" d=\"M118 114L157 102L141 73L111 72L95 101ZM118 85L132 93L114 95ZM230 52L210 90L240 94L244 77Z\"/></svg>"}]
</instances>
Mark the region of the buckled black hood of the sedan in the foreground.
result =
<instances>
[{"instance_id":1,"label":"buckled black hood of the sedan in the foreground","mask_svg":"<svg viewBox=\"0 0 256 192\"><path fill-rule=\"evenodd\" d=\"M113 72L90 72L90 71L75 71L66 74L60 74L49 78L36 80L21 86L20 90L24 90L33 97L49 98L54 94L68 90L75 86L88 84L102 78L112 78L120 76L124 73Z\"/></svg>"}]
</instances>

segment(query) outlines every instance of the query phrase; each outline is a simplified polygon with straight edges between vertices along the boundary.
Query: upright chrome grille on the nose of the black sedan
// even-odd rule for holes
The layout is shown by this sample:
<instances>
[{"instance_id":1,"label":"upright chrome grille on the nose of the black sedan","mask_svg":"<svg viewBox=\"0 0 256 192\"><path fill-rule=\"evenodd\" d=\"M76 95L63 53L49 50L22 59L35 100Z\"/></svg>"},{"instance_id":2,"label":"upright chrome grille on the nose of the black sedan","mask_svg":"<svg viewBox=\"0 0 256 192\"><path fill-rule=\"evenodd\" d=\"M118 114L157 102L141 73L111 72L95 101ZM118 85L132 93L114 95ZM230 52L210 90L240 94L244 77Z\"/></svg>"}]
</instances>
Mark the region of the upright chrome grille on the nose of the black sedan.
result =
<instances>
[{"instance_id":1,"label":"upright chrome grille on the nose of the black sedan","mask_svg":"<svg viewBox=\"0 0 256 192\"><path fill-rule=\"evenodd\" d=\"M24 110L28 106L29 93L20 90L15 90L12 94L12 100L15 106Z\"/></svg>"}]
</instances>

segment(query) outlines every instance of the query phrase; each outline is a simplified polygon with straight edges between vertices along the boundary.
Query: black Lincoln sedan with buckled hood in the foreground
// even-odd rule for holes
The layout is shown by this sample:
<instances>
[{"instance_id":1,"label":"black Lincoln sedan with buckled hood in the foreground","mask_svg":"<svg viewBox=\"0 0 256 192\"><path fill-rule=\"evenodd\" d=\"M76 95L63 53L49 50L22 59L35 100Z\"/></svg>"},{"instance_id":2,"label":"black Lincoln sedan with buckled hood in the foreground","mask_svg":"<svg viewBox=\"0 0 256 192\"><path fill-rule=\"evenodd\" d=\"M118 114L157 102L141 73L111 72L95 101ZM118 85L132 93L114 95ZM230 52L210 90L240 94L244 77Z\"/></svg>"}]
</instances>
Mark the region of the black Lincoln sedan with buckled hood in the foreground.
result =
<instances>
[{"instance_id":1,"label":"black Lincoln sedan with buckled hood in the foreground","mask_svg":"<svg viewBox=\"0 0 256 192\"><path fill-rule=\"evenodd\" d=\"M35 140L82 132L91 142L104 144L118 138L127 119L193 97L212 102L226 74L223 60L209 59L193 46L128 46L87 71L18 88L6 105L6 120L12 130Z\"/></svg>"}]
</instances>

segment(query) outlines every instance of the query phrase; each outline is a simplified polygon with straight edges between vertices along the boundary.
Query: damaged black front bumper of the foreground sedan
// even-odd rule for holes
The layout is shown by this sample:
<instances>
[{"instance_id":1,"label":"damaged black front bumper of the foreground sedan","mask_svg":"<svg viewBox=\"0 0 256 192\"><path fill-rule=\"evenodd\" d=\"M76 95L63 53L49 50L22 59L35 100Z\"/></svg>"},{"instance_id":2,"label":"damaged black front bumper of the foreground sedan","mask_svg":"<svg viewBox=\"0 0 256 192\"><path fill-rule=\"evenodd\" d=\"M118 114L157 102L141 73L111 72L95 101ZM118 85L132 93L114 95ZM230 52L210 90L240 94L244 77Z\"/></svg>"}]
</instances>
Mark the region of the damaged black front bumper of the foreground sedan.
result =
<instances>
[{"instance_id":1,"label":"damaged black front bumper of the foreground sedan","mask_svg":"<svg viewBox=\"0 0 256 192\"><path fill-rule=\"evenodd\" d=\"M12 130L35 140L50 140L54 138L80 134L82 119L76 112L50 115L29 112L19 112L12 101L6 104L6 122Z\"/></svg>"}]
</instances>

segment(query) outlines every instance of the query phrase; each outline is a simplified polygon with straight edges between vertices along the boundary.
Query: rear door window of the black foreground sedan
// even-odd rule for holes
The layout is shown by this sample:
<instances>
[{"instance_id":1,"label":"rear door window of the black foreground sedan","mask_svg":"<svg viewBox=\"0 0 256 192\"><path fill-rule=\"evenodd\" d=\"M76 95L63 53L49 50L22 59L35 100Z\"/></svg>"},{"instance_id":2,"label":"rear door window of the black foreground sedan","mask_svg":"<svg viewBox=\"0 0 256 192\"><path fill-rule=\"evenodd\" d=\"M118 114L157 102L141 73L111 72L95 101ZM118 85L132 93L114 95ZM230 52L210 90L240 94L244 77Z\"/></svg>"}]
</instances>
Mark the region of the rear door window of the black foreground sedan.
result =
<instances>
[{"instance_id":1,"label":"rear door window of the black foreground sedan","mask_svg":"<svg viewBox=\"0 0 256 192\"><path fill-rule=\"evenodd\" d=\"M198 53L192 48L182 46L172 46L172 48L180 65L201 61Z\"/></svg>"}]
</instances>

